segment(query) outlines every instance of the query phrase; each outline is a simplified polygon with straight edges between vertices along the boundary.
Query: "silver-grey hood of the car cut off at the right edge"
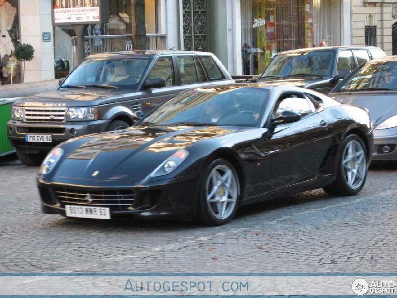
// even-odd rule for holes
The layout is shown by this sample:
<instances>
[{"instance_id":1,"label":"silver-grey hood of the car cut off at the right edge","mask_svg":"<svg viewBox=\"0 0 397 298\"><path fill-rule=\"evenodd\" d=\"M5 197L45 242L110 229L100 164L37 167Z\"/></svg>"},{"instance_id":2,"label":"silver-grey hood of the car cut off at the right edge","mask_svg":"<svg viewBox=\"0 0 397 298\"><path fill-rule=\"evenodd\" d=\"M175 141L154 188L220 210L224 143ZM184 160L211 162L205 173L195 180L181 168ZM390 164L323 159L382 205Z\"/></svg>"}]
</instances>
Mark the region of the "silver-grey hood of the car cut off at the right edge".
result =
<instances>
[{"instance_id":1,"label":"silver-grey hood of the car cut off at the right edge","mask_svg":"<svg viewBox=\"0 0 397 298\"><path fill-rule=\"evenodd\" d=\"M366 108L374 126L379 125L387 118L397 114L397 93L396 92L354 92L354 93L333 93L329 95L336 101L343 104L350 104Z\"/></svg>"}]
</instances>

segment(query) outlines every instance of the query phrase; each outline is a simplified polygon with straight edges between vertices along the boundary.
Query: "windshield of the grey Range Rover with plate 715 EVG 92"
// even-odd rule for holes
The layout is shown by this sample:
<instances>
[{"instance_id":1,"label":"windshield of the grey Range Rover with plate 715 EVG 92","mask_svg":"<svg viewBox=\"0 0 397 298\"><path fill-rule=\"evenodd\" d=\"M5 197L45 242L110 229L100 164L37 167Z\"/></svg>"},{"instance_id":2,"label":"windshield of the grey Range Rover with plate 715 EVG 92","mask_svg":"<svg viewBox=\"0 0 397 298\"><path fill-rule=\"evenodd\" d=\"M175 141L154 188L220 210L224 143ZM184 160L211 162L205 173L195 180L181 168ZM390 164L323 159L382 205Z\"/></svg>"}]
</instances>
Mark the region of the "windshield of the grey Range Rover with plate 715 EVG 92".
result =
<instances>
[{"instance_id":1,"label":"windshield of the grey Range Rover with plate 715 EVG 92","mask_svg":"<svg viewBox=\"0 0 397 298\"><path fill-rule=\"evenodd\" d=\"M121 88L136 90L147 59L87 59L66 78L60 88Z\"/></svg>"}]
</instances>

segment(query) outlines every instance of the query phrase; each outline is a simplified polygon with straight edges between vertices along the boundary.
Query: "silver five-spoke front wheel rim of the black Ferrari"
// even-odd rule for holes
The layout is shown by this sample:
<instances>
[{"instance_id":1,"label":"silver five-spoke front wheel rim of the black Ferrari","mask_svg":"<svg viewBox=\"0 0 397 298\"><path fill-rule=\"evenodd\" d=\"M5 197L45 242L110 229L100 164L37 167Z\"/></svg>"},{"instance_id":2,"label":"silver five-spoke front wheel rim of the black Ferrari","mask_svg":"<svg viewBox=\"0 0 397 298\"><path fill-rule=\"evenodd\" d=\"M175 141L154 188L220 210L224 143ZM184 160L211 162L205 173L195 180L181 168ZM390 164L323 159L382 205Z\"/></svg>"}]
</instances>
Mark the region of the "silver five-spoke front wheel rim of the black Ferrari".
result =
<instances>
[{"instance_id":1,"label":"silver five-spoke front wheel rim of the black Ferrari","mask_svg":"<svg viewBox=\"0 0 397 298\"><path fill-rule=\"evenodd\" d=\"M206 182L208 209L217 219L229 217L237 203L240 184L234 171L220 164L212 169Z\"/></svg>"}]
</instances>

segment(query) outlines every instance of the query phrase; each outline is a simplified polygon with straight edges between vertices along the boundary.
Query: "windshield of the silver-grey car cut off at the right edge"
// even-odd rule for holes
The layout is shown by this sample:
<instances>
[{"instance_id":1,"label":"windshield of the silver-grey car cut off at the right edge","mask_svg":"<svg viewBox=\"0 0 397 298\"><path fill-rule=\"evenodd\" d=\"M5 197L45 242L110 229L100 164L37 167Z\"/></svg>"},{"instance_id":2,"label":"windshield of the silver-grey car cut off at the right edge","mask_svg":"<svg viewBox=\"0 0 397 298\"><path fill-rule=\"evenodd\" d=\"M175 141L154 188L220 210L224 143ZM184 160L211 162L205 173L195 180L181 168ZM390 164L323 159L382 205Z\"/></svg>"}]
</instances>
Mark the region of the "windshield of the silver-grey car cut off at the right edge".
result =
<instances>
[{"instance_id":1,"label":"windshield of the silver-grey car cut off at the right edge","mask_svg":"<svg viewBox=\"0 0 397 298\"><path fill-rule=\"evenodd\" d=\"M397 61L370 61L334 92L397 90Z\"/></svg>"}]
</instances>

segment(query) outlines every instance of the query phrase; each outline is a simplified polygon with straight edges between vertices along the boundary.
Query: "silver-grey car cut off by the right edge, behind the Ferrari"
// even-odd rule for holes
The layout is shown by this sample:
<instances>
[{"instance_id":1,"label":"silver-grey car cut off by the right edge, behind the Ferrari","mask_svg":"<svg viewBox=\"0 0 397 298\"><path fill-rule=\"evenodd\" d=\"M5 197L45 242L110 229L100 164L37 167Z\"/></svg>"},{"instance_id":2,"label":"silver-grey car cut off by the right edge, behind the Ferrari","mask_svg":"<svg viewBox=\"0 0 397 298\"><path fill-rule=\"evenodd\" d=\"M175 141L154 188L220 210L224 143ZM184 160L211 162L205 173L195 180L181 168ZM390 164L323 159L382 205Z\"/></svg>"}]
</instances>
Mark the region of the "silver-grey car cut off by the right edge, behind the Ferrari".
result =
<instances>
[{"instance_id":1,"label":"silver-grey car cut off by the right edge, behind the Ferrari","mask_svg":"<svg viewBox=\"0 0 397 298\"><path fill-rule=\"evenodd\" d=\"M374 127L372 161L397 161L397 56L362 64L329 96L369 111Z\"/></svg>"}]
</instances>

